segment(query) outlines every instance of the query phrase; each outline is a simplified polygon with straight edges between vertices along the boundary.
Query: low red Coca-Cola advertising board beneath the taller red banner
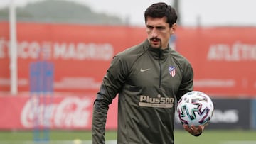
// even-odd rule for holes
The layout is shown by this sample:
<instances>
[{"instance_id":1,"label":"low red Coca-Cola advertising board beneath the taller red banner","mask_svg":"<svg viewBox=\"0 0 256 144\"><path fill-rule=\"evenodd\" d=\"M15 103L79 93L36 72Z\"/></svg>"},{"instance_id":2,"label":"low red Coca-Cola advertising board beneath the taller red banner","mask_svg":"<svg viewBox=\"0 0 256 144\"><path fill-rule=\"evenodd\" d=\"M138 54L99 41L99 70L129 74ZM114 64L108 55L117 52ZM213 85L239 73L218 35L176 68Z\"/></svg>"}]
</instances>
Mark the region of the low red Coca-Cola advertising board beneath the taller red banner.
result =
<instances>
[{"instance_id":1,"label":"low red Coca-Cola advertising board beneath the taller red banner","mask_svg":"<svg viewBox=\"0 0 256 144\"><path fill-rule=\"evenodd\" d=\"M0 96L0 130L90 130L93 101L92 96L78 95ZM106 128L117 128L117 101L110 106Z\"/></svg>"}]
</instances>

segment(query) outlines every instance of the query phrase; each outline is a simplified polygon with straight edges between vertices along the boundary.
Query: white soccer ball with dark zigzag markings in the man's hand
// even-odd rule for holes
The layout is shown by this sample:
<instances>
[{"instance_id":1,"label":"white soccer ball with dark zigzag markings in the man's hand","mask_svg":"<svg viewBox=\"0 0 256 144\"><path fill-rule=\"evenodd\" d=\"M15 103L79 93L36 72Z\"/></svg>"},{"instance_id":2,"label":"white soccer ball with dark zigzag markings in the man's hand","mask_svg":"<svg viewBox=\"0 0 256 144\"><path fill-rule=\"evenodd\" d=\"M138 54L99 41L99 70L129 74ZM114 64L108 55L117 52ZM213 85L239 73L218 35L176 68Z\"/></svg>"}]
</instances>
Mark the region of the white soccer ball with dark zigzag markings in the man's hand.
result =
<instances>
[{"instance_id":1,"label":"white soccer ball with dark zigzag markings in the man's hand","mask_svg":"<svg viewBox=\"0 0 256 144\"><path fill-rule=\"evenodd\" d=\"M187 92L178 101L177 111L182 124L206 125L213 116L213 101L203 92Z\"/></svg>"}]
</instances>

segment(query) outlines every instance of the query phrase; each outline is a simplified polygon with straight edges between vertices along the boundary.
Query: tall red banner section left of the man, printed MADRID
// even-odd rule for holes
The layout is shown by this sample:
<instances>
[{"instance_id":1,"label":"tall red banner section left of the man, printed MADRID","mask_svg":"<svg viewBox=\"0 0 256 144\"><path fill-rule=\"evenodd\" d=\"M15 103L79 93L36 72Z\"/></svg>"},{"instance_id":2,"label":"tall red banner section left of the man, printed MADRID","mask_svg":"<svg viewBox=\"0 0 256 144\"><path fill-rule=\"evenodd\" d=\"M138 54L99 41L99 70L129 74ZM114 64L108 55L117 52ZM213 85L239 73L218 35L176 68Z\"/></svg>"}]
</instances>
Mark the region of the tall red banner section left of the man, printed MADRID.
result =
<instances>
[{"instance_id":1,"label":"tall red banner section left of the man, printed MADRID","mask_svg":"<svg viewBox=\"0 0 256 144\"><path fill-rule=\"evenodd\" d=\"M10 89L9 26L0 23L0 91ZM142 28L18 23L18 91L29 91L29 65L54 63L55 92L97 92L112 57L145 40Z\"/></svg>"}]
</instances>

